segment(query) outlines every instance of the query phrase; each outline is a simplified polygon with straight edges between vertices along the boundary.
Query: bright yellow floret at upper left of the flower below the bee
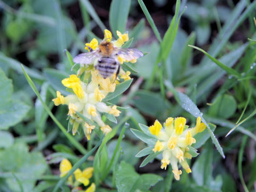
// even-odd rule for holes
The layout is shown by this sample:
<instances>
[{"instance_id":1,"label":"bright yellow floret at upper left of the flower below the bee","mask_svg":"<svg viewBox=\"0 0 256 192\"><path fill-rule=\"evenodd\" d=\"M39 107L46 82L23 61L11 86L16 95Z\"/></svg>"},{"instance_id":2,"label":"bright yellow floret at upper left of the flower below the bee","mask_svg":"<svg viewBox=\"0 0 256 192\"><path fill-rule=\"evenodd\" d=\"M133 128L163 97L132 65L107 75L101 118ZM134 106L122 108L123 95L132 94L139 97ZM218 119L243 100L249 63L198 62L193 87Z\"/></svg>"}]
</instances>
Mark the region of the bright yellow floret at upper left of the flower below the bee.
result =
<instances>
[{"instance_id":1,"label":"bright yellow floret at upper left of the flower below the bee","mask_svg":"<svg viewBox=\"0 0 256 192\"><path fill-rule=\"evenodd\" d=\"M79 99L84 97L81 80L76 75L70 75L69 78L63 79L62 84L68 88L72 88Z\"/></svg>"}]
</instances>

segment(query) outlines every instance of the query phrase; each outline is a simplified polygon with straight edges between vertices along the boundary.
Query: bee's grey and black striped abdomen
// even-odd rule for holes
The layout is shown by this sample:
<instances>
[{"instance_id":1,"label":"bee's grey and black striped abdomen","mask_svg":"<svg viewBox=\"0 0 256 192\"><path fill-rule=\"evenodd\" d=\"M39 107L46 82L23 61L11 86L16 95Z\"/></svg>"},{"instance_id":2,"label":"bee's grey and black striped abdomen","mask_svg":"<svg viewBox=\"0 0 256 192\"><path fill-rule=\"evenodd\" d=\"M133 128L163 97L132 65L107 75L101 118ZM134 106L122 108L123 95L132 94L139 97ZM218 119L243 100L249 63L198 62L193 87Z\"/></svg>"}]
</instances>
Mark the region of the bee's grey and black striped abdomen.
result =
<instances>
[{"instance_id":1,"label":"bee's grey and black striped abdomen","mask_svg":"<svg viewBox=\"0 0 256 192\"><path fill-rule=\"evenodd\" d=\"M118 63L115 58L102 57L98 60L95 69L97 69L103 78L107 78L116 73Z\"/></svg>"}]
</instances>

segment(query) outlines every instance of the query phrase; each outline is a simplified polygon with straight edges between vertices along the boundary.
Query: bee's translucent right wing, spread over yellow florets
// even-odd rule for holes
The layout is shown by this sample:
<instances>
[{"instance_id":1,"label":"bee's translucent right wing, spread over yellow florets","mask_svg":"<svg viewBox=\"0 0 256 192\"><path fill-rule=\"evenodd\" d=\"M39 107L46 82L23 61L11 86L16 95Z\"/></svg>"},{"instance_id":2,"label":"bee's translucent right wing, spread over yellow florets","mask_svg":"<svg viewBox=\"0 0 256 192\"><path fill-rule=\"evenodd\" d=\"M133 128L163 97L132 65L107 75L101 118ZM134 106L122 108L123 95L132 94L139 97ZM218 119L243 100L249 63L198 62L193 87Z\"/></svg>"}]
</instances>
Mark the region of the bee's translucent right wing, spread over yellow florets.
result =
<instances>
[{"instance_id":1,"label":"bee's translucent right wing, spread over yellow florets","mask_svg":"<svg viewBox=\"0 0 256 192\"><path fill-rule=\"evenodd\" d=\"M117 55L127 61L138 59L143 56L143 53L137 49L115 47L115 50L117 51Z\"/></svg>"}]
</instances>

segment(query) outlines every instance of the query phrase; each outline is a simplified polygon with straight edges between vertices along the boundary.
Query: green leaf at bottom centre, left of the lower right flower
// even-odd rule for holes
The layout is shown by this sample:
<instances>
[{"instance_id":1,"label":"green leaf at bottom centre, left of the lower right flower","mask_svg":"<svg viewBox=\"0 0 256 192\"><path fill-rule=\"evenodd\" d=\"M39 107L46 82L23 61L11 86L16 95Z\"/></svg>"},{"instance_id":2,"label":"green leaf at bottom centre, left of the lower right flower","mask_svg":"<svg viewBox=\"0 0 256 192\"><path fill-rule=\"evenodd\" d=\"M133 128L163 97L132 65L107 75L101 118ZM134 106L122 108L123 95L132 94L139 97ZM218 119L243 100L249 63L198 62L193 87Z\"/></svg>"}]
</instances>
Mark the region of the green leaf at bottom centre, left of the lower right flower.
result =
<instances>
[{"instance_id":1,"label":"green leaf at bottom centre, left of the lower right flower","mask_svg":"<svg viewBox=\"0 0 256 192\"><path fill-rule=\"evenodd\" d=\"M124 161L119 165L115 178L118 192L147 191L158 181L163 180L156 174L139 175L132 165Z\"/></svg>"}]
</instances>

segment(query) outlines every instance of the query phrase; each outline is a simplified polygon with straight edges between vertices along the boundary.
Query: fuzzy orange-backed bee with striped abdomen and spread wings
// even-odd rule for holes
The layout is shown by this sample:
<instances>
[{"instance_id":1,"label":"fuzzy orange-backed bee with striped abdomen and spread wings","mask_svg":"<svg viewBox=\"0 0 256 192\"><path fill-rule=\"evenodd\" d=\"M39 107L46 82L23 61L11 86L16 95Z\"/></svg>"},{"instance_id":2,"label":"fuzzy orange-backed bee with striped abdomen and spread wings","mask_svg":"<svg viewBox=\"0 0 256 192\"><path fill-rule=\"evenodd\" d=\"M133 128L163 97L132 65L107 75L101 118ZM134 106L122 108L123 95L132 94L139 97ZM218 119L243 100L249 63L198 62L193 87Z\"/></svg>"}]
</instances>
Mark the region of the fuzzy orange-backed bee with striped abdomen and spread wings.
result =
<instances>
[{"instance_id":1,"label":"fuzzy orange-backed bee with striped abdomen and spread wings","mask_svg":"<svg viewBox=\"0 0 256 192\"><path fill-rule=\"evenodd\" d=\"M120 62L118 56L124 60L131 61L143 56L143 53L137 49L115 47L113 43L102 41L97 50L93 51L87 46L90 52L78 54L73 61L75 63L90 65L97 59L94 68L99 71L103 78L119 74Z\"/></svg>"}]
</instances>

